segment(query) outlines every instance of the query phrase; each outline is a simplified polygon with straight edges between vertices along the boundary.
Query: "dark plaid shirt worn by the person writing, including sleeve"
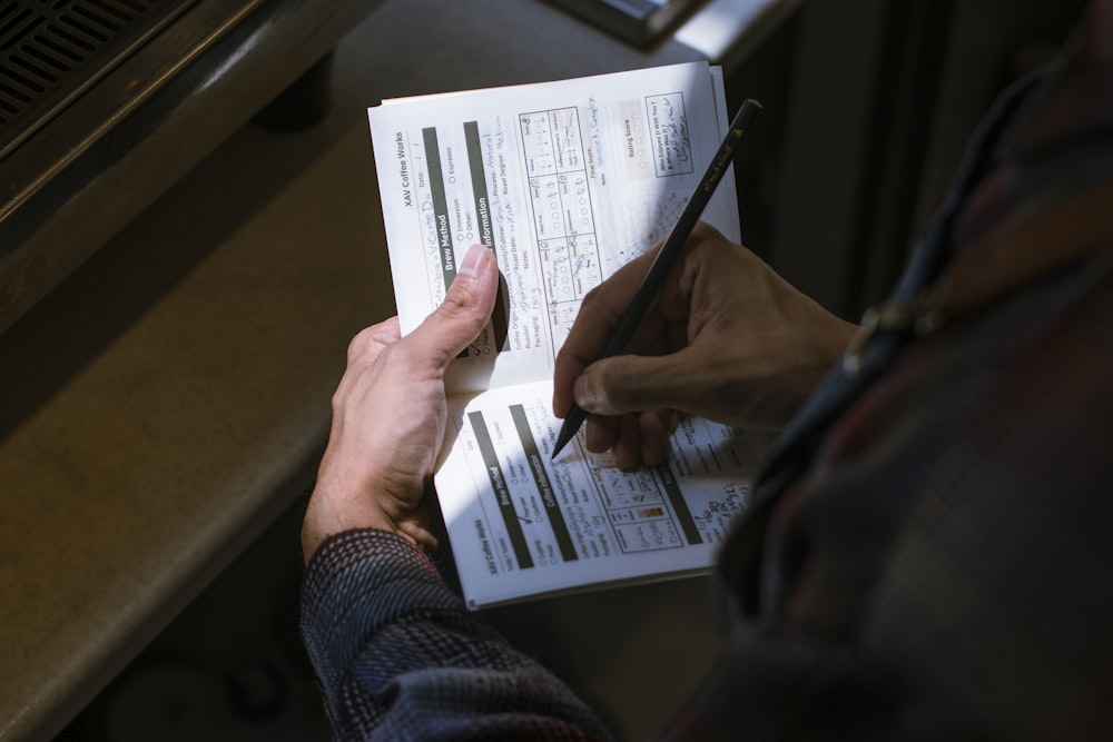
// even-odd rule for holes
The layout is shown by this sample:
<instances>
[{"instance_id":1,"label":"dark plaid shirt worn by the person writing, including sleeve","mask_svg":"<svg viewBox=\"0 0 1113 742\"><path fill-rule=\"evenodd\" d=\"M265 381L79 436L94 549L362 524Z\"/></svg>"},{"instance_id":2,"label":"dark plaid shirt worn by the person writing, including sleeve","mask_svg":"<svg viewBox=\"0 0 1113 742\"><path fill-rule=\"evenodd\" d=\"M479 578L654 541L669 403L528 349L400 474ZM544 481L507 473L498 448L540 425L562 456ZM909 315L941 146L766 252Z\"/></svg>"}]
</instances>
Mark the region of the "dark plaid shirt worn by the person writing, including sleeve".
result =
<instances>
[{"instance_id":1,"label":"dark plaid shirt worn by the person writing, including sleeve","mask_svg":"<svg viewBox=\"0 0 1113 742\"><path fill-rule=\"evenodd\" d=\"M1099 0L1064 62L995 105L894 300L1111 179ZM664 738L1113 739L1113 244L868 349L764 467L720 557L720 656ZM341 739L607 735L393 535L318 550L303 634Z\"/></svg>"}]
</instances>

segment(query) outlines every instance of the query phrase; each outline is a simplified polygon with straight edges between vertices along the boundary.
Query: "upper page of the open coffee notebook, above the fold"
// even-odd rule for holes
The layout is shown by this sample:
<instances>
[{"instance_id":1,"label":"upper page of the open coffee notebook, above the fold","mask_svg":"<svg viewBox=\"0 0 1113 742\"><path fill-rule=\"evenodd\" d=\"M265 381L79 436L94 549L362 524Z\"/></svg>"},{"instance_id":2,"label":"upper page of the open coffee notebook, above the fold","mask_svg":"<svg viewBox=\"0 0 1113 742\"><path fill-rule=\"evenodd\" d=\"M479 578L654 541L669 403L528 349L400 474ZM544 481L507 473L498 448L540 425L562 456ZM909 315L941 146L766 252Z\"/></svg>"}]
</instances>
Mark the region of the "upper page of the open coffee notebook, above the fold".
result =
<instances>
[{"instance_id":1,"label":"upper page of the open coffee notebook, above the fold","mask_svg":"<svg viewBox=\"0 0 1113 742\"><path fill-rule=\"evenodd\" d=\"M662 239L728 126L705 62L368 109L403 333L491 247L504 294L451 389L540 380L583 296ZM703 218L739 239L733 179Z\"/></svg>"}]
</instances>

